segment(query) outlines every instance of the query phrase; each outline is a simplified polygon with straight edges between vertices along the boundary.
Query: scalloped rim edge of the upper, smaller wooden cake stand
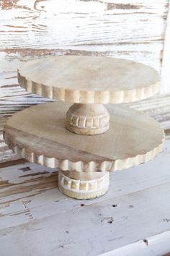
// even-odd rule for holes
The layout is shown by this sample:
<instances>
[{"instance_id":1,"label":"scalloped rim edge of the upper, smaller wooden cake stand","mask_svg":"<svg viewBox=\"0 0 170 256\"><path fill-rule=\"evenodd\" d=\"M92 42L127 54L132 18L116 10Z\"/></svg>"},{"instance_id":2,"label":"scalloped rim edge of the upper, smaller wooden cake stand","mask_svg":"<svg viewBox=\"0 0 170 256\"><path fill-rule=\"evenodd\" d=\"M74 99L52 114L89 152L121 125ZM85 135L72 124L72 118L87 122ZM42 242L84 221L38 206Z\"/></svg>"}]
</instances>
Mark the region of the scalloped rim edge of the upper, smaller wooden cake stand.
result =
<instances>
[{"instance_id":1,"label":"scalloped rim edge of the upper, smaller wooden cake stand","mask_svg":"<svg viewBox=\"0 0 170 256\"><path fill-rule=\"evenodd\" d=\"M159 92L161 81L153 85L133 90L120 90L117 92L99 90L71 90L67 88L54 88L41 83L28 80L17 70L19 85L29 93L35 93L45 98L68 101L73 103L117 104L141 101L150 98Z\"/></svg>"}]
</instances>

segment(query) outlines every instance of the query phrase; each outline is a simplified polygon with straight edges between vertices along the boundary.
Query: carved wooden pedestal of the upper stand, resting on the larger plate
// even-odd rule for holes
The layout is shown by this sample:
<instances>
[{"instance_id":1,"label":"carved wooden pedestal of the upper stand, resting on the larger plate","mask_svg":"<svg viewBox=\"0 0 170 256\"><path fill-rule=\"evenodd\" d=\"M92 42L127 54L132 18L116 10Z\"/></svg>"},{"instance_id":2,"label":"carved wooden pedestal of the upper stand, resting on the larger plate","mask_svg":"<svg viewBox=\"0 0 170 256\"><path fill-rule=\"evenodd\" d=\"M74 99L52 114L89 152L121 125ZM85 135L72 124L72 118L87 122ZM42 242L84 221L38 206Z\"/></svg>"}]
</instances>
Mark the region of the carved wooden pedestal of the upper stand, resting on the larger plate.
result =
<instances>
[{"instance_id":1,"label":"carved wooden pedestal of the upper stand, resting on the larger plate","mask_svg":"<svg viewBox=\"0 0 170 256\"><path fill-rule=\"evenodd\" d=\"M66 114L66 128L79 135L99 135L109 129L109 113L102 104L73 104Z\"/></svg>"}]
</instances>

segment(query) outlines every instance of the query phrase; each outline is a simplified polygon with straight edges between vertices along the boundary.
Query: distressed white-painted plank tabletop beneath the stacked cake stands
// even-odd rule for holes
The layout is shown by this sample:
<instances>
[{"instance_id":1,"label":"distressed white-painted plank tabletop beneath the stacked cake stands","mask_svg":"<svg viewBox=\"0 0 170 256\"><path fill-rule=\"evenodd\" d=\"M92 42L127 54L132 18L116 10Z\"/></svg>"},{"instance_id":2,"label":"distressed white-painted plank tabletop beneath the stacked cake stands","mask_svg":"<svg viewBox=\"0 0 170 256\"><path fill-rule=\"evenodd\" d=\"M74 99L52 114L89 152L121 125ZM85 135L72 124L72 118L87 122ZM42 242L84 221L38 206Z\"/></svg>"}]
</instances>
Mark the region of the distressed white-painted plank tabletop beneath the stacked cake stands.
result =
<instances>
[{"instance_id":1,"label":"distressed white-painted plank tabletop beneath the stacked cake stands","mask_svg":"<svg viewBox=\"0 0 170 256\"><path fill-rule=\"evenodd\" d=\"M1 256L166 255L170 251L170 140L154 161L115 171L109 192L72 200L56 169L0 168Z\"/></svg>"}]
</instances>

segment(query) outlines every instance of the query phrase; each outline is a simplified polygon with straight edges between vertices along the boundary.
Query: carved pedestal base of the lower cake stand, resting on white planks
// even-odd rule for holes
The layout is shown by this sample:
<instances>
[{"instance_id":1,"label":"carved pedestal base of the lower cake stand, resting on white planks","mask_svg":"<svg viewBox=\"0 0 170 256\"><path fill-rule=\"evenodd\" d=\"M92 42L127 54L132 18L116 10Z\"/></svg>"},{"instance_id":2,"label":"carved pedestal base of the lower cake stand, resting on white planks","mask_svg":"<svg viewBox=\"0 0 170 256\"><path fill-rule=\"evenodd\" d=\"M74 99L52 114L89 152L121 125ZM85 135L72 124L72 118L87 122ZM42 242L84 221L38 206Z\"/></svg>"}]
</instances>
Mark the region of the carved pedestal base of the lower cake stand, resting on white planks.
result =
<instances>
[{"instance_id":1,"label":"carved pedestal base of the lower cake stand, resting on white planks","mask_svg":"<svg viewBox=\"0 0 170 256\"><path fill-rule=\"evenodd\" d=\"M59 171L58 188L76 199L100 197L109 189L109 172Z\"/></svg>"}]
</instances>

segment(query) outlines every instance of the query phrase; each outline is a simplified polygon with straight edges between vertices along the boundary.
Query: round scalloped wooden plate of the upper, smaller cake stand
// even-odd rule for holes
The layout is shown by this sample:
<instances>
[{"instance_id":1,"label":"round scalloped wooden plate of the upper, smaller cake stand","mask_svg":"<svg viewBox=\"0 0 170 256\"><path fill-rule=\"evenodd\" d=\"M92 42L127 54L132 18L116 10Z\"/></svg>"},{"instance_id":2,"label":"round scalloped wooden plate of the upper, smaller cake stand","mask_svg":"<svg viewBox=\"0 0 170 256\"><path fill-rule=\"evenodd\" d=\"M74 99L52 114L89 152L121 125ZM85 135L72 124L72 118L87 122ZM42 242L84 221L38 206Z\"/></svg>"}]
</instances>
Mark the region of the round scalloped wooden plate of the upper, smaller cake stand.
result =
<instances>
[{"instance_id":1,"label":"round scalloped wooden plate of the upper, smaller cake stand","mask_svg":"<svg viewBox=\"0 0 170 256\"><path fill-rule=\"evenodd\" d=\"M31 93L73 103L128 103L158 93L160 77L146 65L98 56L50 56L18 70Z\"/></svg>"}]
</instances>

